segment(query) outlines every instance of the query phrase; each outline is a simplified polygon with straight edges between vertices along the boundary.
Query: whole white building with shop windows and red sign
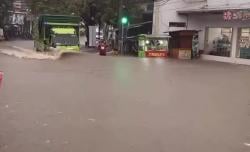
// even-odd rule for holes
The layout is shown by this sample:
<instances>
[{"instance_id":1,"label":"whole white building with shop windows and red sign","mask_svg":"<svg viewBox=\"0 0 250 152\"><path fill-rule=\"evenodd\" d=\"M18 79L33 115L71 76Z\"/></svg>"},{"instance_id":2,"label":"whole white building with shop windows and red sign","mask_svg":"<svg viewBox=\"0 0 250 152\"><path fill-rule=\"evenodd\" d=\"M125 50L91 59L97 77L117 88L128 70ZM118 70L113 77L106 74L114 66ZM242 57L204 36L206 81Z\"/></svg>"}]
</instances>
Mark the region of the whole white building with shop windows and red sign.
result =
<instances>
[{"instance_id":1,"label":"whole white building with shop windows and red sign","mask_svg":"<svg viewBox=\"0 0 250 152\"><path fill-rule=\"evenodd\" d=\"M250 65L250 0L156 0L153 33L199 31L203 59Z\"/></svg>"}]
</instances>

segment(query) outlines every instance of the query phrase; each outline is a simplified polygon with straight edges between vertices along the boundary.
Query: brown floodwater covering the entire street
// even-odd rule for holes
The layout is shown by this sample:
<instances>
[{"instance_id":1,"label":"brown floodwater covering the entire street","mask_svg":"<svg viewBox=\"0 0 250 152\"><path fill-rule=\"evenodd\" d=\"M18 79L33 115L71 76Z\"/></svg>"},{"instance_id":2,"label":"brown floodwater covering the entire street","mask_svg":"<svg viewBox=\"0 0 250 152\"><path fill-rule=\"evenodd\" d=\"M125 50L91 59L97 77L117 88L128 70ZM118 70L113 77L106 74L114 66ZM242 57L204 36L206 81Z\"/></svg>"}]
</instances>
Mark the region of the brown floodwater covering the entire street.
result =
<instances>
[{"instance_id":1,"label":"brown floodwater covering the entire street","mask_svg":"<svg viewBox=\"0 0 250 152\"><path fill-rule=\"evenodd\" d=\"M0 70L0 152L250 151L248 66L0 54Z\"/></svg>"}]
</instances>

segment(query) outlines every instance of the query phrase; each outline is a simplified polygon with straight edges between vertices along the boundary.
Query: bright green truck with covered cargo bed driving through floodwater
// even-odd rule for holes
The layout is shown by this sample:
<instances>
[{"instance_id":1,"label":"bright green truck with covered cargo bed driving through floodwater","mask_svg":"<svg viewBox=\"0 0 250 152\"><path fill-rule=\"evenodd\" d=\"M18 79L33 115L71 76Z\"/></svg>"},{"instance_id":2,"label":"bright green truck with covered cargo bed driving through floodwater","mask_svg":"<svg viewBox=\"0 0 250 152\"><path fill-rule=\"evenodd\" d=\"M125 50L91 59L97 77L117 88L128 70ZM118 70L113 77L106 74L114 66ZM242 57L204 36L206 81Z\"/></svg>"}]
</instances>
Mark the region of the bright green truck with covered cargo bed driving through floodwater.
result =
<instances>
[{"instance_id":1,"label":"bright green truck with covered cargo bed driving through floodwater","mask_svg":"<svg viewBox=\"0 0 250 152\"><path fill-rule=\"evenodd\" d=\"M80 52L80 17L40 15L33 24L36 51Z\"/></svg>"}]
</instances>

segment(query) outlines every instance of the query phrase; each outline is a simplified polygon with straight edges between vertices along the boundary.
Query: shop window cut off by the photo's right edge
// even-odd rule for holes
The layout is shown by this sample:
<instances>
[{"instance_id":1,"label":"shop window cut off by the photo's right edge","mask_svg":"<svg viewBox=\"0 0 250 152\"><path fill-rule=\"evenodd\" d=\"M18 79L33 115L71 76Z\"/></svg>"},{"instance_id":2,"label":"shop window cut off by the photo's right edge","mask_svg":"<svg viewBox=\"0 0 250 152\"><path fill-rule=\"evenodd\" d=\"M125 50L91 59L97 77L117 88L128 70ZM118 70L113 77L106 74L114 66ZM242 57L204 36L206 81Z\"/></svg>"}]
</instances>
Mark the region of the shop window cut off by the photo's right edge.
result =
<instances>
[{"instance_id":1,"label":"shop window cut off by the photo's right edge","mask_svg":"<svg viewBox=\"0 0 250 152\"><path fill-rule=\"evenodd\" d=\"M250 28L241 28L238 41L238 57L250 59Z\"/></svg>"}]
</instances>

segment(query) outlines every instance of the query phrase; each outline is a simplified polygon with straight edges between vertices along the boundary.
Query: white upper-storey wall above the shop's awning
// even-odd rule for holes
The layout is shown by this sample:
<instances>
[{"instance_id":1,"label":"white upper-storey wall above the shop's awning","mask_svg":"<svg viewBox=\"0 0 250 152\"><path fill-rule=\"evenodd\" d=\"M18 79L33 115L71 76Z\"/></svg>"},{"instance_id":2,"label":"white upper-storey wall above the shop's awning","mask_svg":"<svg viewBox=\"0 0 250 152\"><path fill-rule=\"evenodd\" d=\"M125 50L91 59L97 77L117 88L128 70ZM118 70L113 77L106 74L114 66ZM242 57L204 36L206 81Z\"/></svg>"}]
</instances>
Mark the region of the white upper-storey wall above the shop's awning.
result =
<instances>
[{"instance_id":1,"label":"white upper-storey wall above the shop's awning","mask_svg":"<svg viewBox=\"0 0 250 152\"><path fill-rule=\"evenodd\" d=\"M153 33L162 33L178 28L170 28L169 22L186 22L187 18L184 15L178 15L177 10L188 8L200 8L208 4L209 7L216 6L243 6L250 5L250 0L170 0L167 3L155 2Z\"/></svg>"}]
</instances>

